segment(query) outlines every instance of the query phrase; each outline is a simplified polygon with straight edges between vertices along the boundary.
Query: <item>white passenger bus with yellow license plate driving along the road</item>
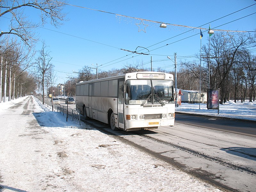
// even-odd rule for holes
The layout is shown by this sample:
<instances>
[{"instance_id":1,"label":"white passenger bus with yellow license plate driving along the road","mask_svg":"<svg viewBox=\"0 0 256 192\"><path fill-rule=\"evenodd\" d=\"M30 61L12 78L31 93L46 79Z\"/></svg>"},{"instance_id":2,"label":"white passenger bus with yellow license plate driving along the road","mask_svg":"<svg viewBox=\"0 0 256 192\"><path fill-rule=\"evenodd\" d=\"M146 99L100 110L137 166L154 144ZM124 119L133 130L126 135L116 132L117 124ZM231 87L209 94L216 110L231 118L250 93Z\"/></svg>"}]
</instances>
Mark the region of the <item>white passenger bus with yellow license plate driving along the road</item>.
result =
<instances>
[{"instance_id":1,"label":"white passenger bus with yellow license plate driving along the road","mask_svg":"<svg viewBox=\"0 0 256 192\"><path fill-rule=\"evenodd\" d=\"M112 130L135 131L173 126L173 75L134 72L76 84L76 110L109 124Z\"/></svg>"}]
</instances>

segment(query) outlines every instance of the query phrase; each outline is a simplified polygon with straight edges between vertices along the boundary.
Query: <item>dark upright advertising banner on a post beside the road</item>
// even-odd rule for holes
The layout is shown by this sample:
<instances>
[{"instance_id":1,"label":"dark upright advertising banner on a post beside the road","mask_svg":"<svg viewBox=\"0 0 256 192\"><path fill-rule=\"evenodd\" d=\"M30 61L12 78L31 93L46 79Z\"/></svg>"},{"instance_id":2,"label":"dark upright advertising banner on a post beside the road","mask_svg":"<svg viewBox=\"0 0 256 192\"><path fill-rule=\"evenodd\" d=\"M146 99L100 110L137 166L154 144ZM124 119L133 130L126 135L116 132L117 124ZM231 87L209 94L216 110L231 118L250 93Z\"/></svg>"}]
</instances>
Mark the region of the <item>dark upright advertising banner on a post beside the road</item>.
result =
<instances>
[{"instance_id":1,"label":"dark upright advertising banner on a post beside the road","mask_svg":"<svg viewBox=\"0 0 256 192\"><path fill-rule=\"evenodd\" d=\"M220 89L207 89L207 109L219 109Z\"/></svg>"}]
</instances>

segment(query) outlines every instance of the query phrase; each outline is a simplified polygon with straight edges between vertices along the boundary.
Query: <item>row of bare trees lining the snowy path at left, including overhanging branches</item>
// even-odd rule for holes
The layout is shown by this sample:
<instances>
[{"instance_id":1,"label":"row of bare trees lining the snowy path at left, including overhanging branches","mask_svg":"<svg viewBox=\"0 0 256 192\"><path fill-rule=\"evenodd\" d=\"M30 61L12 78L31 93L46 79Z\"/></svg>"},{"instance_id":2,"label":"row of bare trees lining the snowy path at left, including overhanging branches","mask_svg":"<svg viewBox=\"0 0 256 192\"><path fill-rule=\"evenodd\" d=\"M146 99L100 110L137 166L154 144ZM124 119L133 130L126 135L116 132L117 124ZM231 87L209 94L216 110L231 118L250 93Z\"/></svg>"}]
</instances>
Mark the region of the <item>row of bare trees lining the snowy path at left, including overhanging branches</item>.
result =
<instances>
[{"instance_id":1,"label":"row of bare trees lining the snowy path at left, including overhanging branches","mask_svg":"<svg viewBox=\"0 0 256 192\"><path fill-rule=\"evenodd\" d=\"M66 16L64 3L65 0L0 1L1 20L7 20L0 32L0 102L5 101L6 96L11 100L34 93L36 87L44 87L45 76L52 77L51 57L44 42L42 50L38 53L34 50L38 42L34 29L47 22L55 27L62 25ZM40 14L39 22L38 18L29 15L29 9ZM32 62L34 58L36 61Z\"/></svg>"}]
</instances>

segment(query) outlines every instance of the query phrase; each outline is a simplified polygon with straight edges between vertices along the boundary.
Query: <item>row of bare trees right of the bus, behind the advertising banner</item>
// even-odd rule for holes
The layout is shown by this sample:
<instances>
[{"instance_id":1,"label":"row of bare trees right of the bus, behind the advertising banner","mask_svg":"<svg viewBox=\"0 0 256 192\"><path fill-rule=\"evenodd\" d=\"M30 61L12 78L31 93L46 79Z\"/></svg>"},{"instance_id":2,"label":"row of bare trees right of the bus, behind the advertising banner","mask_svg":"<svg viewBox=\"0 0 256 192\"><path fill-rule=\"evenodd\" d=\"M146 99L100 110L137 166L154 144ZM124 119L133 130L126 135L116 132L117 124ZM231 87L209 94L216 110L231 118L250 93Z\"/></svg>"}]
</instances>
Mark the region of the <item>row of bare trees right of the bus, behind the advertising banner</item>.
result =
<instances>
[{"instance_id":1,"label":"row of bare trees right of the bus, behind the advertising banner","mask_svg":"<svg viewBox=\"0 0 256 192\"><path fill-rule=\"evenodd\" d=\"M253 69L256 69L256 57L250 50L255 52L255 48L255 36L250 33L234 33L228 39L224 33L211 36L210 50L209 44L202 47L202 62L205 64L201 67L203 91L220 88L221 104L229 99L235 102L245 98L254 101L256 71ZM198 60L180 63L177 83L181 89L199 90L199 65Z\"/></svg>"}]
</instances>

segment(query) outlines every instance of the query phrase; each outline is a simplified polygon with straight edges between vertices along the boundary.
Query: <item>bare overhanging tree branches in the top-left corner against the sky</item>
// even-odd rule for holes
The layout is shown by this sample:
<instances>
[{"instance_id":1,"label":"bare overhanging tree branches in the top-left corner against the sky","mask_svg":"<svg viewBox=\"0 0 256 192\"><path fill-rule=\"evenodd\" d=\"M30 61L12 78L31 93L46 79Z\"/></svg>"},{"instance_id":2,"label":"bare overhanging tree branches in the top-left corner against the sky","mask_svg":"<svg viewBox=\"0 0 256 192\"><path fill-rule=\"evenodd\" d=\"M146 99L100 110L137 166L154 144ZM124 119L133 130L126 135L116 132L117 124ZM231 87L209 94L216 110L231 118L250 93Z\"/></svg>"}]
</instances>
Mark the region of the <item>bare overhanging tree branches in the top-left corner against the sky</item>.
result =
<instances>
[{"instance_id":1,"label":"bare overhanging tree branches in the top-left corner against the sky","mask_svg":"<svg viewBox=\"0 0 256 192\"><path fill-rule=\"evenodd\" d=\"M64 0L1 0L0 1L0 17L5 16L10 19L9 29L1 31L0 37L3 35L14 35L20 38L25 44L30 46L37 41L36 33L34 31L40 24L31 21L25 10L34 8L41 14L42 25L50 23L58 27L64 21L66 13L63 13L65 6Z\"/></svg>"}]
</instances>

